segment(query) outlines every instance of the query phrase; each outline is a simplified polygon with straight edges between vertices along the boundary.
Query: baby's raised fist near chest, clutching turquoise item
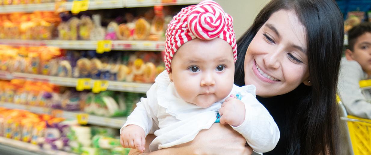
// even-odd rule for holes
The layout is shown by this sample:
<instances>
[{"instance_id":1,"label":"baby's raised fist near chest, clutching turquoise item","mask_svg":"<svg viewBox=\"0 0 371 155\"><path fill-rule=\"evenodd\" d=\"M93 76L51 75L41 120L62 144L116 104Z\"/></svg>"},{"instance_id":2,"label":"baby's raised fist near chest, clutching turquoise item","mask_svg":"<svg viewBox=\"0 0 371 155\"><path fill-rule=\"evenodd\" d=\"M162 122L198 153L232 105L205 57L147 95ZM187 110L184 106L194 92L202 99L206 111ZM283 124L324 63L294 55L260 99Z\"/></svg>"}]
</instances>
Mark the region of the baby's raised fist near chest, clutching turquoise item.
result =
<instances>
[{"instance_id":1,"label":"baby's raised fist near chest, clutching turquoise item","mask_svg":"<svg viewBox=\"0 0 371 155\"><path fill-rule=\"evenodd\" d=\"M245 104L231 95L221 104L219 114L221 124L237 127L245 120Z\"/></svg>"}]
</instances>

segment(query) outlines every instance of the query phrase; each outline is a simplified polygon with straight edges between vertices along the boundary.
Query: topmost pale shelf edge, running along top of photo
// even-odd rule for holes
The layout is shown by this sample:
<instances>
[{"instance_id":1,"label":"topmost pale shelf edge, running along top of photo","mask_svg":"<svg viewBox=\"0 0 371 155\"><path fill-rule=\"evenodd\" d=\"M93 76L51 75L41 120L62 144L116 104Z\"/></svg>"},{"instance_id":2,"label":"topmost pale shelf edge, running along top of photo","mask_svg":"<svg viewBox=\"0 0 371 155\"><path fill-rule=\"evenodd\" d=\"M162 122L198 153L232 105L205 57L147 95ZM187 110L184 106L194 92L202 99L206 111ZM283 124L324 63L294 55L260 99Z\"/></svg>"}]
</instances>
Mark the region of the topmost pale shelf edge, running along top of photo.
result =
<instances>
[{"instance_id":1,"label":"topmost pale shelf edge, running along top of photo","mask_svg":"<svg viewBox=\"0 0 371 155\"><path fill-rule=\"evenodd\" d=\"M124 7L149 7L155 5L198 4L201 0L90 0L88 10ZM72 10L72 1L64 3L66 11ZM62 7L63 7L62 6ZM54 11L55 3L0 5L0 13Z\"/></svg>"}]
</instances>

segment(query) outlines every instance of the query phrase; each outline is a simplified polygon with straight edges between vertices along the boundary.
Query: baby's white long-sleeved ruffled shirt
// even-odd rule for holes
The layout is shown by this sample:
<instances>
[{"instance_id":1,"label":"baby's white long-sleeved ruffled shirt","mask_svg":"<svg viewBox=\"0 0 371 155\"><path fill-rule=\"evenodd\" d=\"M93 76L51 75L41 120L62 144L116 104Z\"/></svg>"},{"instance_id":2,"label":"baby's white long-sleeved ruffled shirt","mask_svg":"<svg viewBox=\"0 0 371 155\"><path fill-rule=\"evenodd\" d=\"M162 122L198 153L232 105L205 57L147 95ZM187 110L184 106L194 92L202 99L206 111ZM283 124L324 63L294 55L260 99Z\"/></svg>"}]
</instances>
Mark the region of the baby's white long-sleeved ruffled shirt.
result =
<instances>
[{"instance_id":1,"label":"baby's white long-sleeved ruffled shirt","mask_svg":"<svg viewBox=\"0 0 371 155\"><path fill-rule=\"evenodd\" d=\"M246 114L244 122L232 128L243 135L255 152L268 152L275 148L280 132L267 109L256 100L255 90L254 85L233 85L230 94L241 94ZM157 137L150 144L150 151L192 141L199 131L213 125L226 98L207 108L185 102L164 71L147 91L147 98L137 103L120 134L127 125L138 125L146 135L155 134Z\"/></svg>"}]
</instances>

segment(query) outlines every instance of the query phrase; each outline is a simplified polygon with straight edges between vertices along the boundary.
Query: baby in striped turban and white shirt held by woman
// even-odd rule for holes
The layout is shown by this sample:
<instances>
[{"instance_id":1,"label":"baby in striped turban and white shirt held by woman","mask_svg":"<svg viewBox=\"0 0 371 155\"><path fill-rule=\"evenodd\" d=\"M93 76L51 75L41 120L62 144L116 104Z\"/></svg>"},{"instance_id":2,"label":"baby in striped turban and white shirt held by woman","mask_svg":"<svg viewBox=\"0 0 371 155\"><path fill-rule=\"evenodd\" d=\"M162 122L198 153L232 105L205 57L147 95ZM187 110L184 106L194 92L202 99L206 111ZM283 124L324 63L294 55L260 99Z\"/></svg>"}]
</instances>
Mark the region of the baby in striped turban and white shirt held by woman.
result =
<instances>
[{"instance_id":1,"label":"baby in striped turban and white shirt held by woman","mask_svg":"<svg viewBox=\"0 0 371 155\"><path fill-rule=\"evenodd\" d=\"M256 100L255 86L233 84L233 19L219 4L205 0L183 8L168 25L165 52L166 70L120 130L123 147L144 152L147 134L157 136L149 151L192 141L216 122L218 111L220 123L242 134L254 151L276 146L279 129Z\"/></svg>"}]
</instances>

